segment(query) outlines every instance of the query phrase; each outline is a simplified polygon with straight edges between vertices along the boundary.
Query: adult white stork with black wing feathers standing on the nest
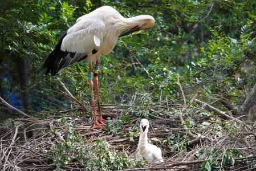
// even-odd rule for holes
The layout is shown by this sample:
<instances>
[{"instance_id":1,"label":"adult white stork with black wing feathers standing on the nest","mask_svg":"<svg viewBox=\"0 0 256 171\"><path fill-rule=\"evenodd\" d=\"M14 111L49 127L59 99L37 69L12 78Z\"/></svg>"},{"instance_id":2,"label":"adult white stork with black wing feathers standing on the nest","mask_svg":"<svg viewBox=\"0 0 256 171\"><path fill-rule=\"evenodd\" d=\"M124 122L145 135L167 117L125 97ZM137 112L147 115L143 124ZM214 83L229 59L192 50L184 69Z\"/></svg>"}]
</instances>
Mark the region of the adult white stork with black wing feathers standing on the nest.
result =
<instances>
[{"instance_id":1,"label":"adult white stork with black wing feathers standing on the nest","mask_svg":"<svg viewBox=\"0 0 256 171\"><path fill-rule=\"evenodd\" d=\"M88 83L91 91L94 128L105 125L101 116L100 96L97 73L99 71L99 59L101 55L109 54L116 45L120 36L130 34L140 29L149 29L155 25L155 19L151 15L138 15L132 18L124 18L110 6L102 6L83 15L76 20L75 25L70 27L60 38L55 49L43 64L48 72L55 75L68 65L87 59L89 64ZM96 99L98 106L98 119L94 103L92 82L92 62L95 61L94 78Z\"/></svg>"}]
</instances>

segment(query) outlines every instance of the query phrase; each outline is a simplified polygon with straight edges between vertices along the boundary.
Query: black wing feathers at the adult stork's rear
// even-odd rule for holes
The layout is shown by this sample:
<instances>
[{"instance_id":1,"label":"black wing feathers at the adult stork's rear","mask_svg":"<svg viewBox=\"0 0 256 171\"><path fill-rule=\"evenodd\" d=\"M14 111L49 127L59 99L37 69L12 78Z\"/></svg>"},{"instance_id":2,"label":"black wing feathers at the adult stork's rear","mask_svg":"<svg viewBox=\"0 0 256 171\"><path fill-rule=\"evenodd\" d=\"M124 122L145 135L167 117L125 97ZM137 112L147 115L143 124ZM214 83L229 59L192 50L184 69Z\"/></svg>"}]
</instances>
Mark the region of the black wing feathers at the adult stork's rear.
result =
<instances>
[{"instance_id":1,"label":"black wing feathers at the adult stork's rear","mask_svg":"<svg viewBox=\"0 0 256 171\"><path fill-rule=\"evenodd\" d=\"M58 44L56 44L54 50L48 56L43 64L43 68L46 69L46 75L50 72L51 75L55 75L60 69L67 67L69 64L79 62L87 58L87 54L77 52L62 51L62 40L67 35L67 31L60 37Z\"/></svg>"}]
</instances>

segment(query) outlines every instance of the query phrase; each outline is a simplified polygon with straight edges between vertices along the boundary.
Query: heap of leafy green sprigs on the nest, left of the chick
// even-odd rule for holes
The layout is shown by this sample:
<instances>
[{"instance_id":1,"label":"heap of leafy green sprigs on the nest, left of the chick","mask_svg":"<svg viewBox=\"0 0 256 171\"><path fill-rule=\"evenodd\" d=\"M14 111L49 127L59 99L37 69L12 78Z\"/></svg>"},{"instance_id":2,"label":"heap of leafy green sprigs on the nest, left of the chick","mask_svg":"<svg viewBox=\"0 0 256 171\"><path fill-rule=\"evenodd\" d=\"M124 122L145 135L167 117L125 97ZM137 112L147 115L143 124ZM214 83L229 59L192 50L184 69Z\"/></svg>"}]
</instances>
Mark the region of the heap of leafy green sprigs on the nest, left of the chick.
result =
<instances>
[{"instance_id":1,"label":"heap of leafy green sprigs on the nest, left of the chick","mask_svg":"<svg viewBox=\"0 0 256 171\"><path fill-rule=\"evenodd\" d=\"M74 130L74 125L67 123L64 118L61 121L67 128L66 140L52 146L48 151L49 157L54 156L53 161L56 170L62 170L62 166L75 161L84 164L86 170L120 170L133 166L143 166L131 158L128 152L110 149L106 140L99 139L94 144L84 144L82 137ZM54 130L51 129L50 133L54 135Z\"/></svg>"}]
</instances>

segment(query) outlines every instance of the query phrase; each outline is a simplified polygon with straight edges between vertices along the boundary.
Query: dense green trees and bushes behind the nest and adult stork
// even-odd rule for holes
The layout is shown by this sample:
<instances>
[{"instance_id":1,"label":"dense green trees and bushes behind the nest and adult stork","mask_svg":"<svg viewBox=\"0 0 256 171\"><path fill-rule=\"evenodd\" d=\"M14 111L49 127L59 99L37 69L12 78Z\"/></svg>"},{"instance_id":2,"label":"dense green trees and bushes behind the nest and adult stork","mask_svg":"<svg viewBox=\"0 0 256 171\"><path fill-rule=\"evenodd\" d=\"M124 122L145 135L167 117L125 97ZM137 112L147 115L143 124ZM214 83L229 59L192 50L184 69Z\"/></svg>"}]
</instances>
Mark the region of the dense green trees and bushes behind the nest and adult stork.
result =
<instances>
[{"instance_id":1,"label":"dense green trees and bushes behind the nest and adult stork","mask_svg":"<svg viewBox=\"0 0 256 171\"><path fill-rule=\"evenodd\" d=\"M103 5L124 17L152 15L156 25L119 39L113 52L102 56L102 103L129 104L147 93L155 102L177 99L179 74L186 95L201 91L207 99L225 97L236 107L255 84L255 1L3 0L0 96L31 111L68 107L53 91L56 76L44 76L42 64L76 18ZM78 99L90 101L86 61L58 77Z\"/></svg>"}]
</instances>

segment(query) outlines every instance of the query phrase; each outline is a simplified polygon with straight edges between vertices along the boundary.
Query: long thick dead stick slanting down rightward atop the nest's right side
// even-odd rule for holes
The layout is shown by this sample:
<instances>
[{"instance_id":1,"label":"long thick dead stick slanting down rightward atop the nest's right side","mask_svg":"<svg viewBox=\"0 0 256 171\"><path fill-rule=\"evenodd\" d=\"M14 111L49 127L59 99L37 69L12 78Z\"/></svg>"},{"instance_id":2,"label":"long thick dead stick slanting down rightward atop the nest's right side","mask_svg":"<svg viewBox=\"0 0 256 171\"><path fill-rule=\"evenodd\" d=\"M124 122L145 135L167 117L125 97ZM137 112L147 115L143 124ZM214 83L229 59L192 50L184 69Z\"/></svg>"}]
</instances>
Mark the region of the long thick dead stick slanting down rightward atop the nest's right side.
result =
<instances>
[{"instance_id":1,"label":"long thick dead stick slanting down rightward atop the nest's right side","mask_svg":"<svg viewBox=\"0 0 256 171\"><path fill-rule=\"evenodd\" d=\"M243 123L243 121L241 121L239 119L235 119L234 117L227 115L225 112L223 112L223 111L221 111L217 108L214 108L212 105L209 105L209 104L205 103L204 101L201 101L201 100L198 100L198 99L194 99L194 101L197 104L200 104L200 105L204 106L205 108L209 109L210 111L216 112L217 114L219 114L221 116L224 116L225 119L232 119L232 120L238 121L242 125L245 125L246 128L250 129L250 127L247 124Z\"/></svg>"}]
</instances>

